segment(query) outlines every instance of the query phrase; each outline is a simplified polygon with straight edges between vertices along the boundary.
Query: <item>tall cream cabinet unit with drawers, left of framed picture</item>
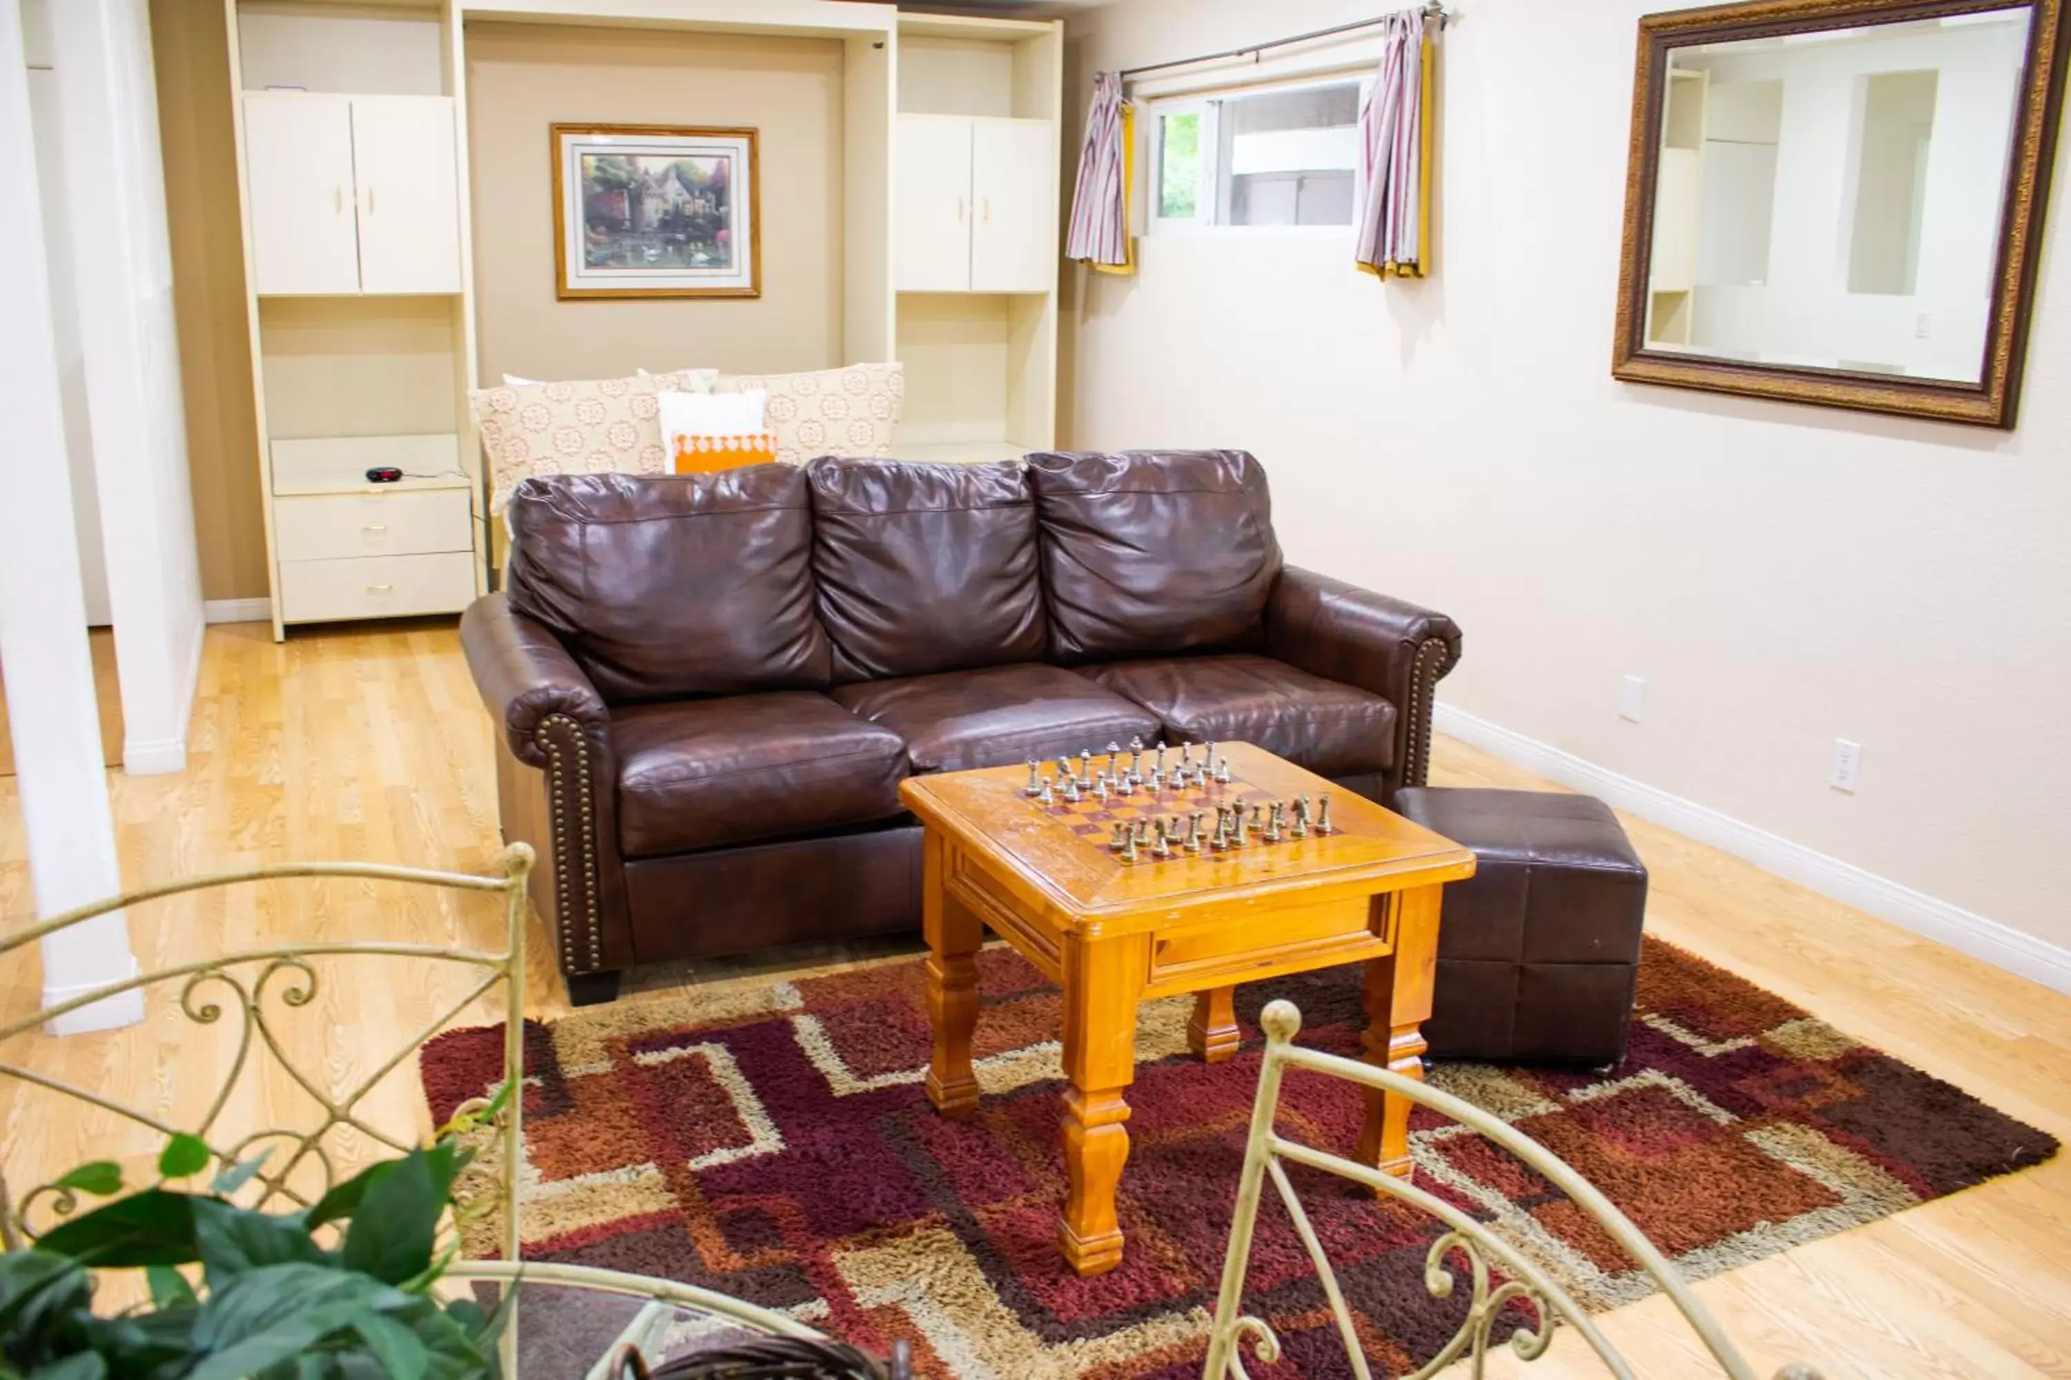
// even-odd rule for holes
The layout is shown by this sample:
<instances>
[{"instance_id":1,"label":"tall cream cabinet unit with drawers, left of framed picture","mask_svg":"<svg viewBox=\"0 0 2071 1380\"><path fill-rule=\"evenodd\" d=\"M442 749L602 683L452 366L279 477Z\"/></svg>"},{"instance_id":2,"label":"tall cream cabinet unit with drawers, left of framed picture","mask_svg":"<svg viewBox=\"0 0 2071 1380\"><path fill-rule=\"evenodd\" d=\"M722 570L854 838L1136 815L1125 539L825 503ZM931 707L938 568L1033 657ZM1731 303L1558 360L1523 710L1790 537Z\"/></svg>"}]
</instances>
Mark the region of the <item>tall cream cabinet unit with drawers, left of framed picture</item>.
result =
<instances>
[{"instance_id":1,"label":"tall cream cabinet unit with drawers, left of framed picture","mask_svg":"<svg viewBox=\"0 0 2071 1380\"><path fill-rule=\"evenodd\" d=\"M273 635L458 612L487 588L460 12L226 8Z\"/></svg>"}]
</instances>

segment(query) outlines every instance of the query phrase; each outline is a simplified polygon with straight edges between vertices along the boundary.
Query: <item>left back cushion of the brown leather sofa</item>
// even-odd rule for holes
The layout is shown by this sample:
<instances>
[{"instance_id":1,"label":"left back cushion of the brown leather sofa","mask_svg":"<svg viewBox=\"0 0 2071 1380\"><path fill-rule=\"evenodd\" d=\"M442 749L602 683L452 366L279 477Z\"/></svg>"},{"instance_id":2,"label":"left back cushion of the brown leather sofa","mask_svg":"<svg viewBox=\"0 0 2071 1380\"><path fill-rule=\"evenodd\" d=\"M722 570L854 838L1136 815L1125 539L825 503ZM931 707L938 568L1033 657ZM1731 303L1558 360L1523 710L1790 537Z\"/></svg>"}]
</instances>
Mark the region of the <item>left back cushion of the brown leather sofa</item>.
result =
<instances>
[{"instance_id":1,"label":"left back cushion of the brown leather sofa","mask_svg":"<svg viewBox=\"0 0 2071 1380\"><path fill-rule=\"evenodd\" d=\"M801 472L526 480L509 519L512 608L545 623L605 699L828 683Z\"/></svg>"}]
</instances>

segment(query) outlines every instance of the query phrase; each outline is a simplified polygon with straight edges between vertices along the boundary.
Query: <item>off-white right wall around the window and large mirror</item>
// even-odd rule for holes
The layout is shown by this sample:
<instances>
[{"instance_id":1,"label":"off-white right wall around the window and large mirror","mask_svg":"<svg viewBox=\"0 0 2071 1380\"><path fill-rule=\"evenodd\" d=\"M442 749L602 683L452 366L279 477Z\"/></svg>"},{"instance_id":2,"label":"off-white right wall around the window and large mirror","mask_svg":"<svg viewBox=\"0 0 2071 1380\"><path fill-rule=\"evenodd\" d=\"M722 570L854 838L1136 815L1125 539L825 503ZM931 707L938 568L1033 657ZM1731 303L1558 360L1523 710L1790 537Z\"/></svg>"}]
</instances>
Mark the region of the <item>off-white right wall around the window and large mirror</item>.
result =
<instances>
[{"instance_id":1,"label":"off-white right wall around the window and large mirror","mask_svg":"<svg viewBox=\"0 0 2071 1380\"><path fill-rule=\"evenodd\" d=\"M2019 430L1615 383L1632 43L1655 8L1460 6L1429 281L1265 236L1145 238L1135 279L1067 273L1069 441L1249 447L1290 561L1460 621L1452 710L2071 981L2065 149ZM1371 12L1282 0L1261 31L1251 0L1125 0L1075 19L1077 85ZM1638 724L1626 674L1646 679ZM1864 745L1856 794L1827 784L1837 737Z\"/></svg>"}]
</instances>

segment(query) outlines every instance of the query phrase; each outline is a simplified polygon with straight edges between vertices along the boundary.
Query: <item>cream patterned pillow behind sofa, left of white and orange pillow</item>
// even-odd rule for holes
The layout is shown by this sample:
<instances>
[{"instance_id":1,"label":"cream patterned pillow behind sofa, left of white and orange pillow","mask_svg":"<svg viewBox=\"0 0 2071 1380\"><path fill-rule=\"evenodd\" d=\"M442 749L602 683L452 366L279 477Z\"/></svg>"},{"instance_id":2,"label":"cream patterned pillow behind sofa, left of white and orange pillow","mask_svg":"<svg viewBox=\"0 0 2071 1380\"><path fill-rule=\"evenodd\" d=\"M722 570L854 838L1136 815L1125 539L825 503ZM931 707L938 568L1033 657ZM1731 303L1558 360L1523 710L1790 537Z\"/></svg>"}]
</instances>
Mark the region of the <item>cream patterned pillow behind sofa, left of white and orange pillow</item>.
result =
<instances>
[{"instance_id":1,"label":"cream patterned pillow behind sofa, left of white and orange pillow","mask_svg":"<svg viewBox=\"0 0 2071 1380\"><path fill-rule=\"evenodd\" d=\"M646 379L586 379L474 389L468 406L483 432L501 513L520 480L543 474L669 474L659 393L710 393L717 368Z\"/></svg>"}]
</instances>

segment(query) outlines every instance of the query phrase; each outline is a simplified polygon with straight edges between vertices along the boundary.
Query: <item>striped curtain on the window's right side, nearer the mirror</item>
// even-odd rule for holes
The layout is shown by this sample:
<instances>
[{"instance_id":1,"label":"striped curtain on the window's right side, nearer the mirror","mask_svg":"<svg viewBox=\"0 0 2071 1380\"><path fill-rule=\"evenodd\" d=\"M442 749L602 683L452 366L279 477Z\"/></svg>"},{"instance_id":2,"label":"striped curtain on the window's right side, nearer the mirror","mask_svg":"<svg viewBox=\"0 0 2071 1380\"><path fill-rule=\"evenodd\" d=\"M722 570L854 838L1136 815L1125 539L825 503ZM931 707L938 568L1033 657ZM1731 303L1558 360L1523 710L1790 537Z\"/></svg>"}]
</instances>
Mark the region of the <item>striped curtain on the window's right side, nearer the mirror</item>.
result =
<instances>
[{"instance_id":1,"label":"striped curtain on the window's right side, nearer the mirror","mask_svg":"<svg viewBox=\"0 0 2071 1380\"><path fill-rule=\"evenodd\" d=\"M1352 259L1375 277L1423 277L1431 230L1431 48L1423 10L1390 14L1359 108Z\"/></svg>"}]
</instances>

